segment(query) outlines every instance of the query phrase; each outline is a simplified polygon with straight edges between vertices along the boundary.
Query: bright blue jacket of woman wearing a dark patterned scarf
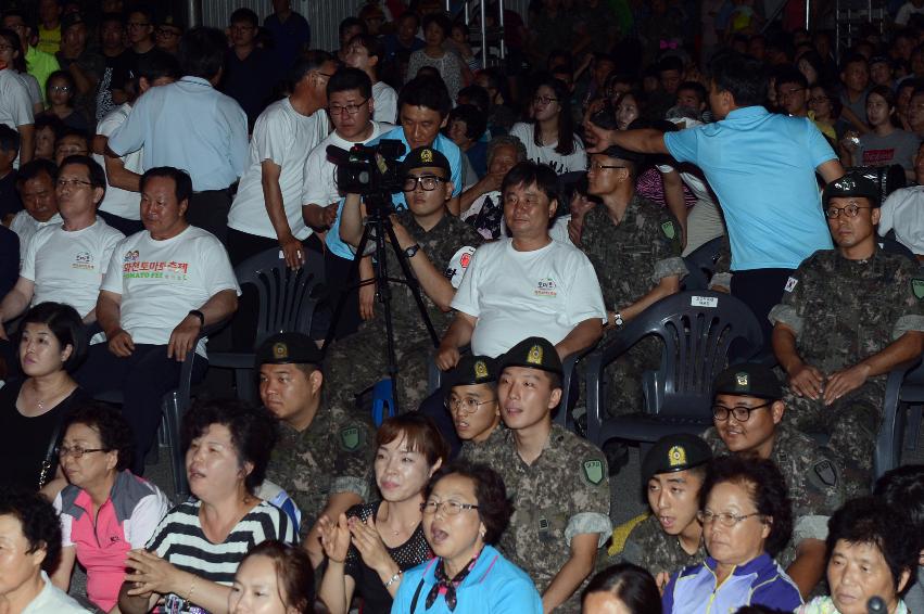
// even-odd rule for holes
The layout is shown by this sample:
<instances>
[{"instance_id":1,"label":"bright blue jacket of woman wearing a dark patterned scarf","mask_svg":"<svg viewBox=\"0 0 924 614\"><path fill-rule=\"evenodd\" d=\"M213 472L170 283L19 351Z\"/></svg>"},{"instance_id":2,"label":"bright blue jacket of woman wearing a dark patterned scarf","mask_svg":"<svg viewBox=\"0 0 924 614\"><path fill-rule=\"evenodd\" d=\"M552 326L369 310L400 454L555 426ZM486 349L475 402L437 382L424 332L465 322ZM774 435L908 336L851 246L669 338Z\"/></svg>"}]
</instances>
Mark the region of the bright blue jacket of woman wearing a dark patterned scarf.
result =
<instances>
[{"instance_id":1,"label":"bright blue jacket of woman wearing a dark patterned scarf","mask_svg":"<svg viewBox=\"0 0 924 614\"><path fill-rule=\"evenodd\" d=\"M431 559L405 572L392 614L450 614L443 596L427 609L427 594L436 584L439 563L440 559ZM474 568L456 589L456 599L452 614L542 614L542 598L533 581L492 546L481 551Z\"/></svg>"}]
</instances>

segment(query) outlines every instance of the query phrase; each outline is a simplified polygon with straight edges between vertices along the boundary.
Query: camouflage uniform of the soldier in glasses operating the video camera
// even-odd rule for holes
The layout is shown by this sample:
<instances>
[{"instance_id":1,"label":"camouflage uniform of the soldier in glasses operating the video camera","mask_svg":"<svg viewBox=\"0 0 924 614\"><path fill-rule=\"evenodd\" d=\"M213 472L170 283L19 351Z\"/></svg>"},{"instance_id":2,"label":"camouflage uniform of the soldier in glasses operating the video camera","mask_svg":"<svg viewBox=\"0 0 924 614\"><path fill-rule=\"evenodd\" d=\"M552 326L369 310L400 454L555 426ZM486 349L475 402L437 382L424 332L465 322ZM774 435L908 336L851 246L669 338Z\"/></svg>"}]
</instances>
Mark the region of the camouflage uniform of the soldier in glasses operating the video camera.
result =
<instances>
[{"instance_id":1,"label":"camouflage uniform of the soldier in glasses operating the video camera","mask_svg":"<svg viewBox=\"0 0 924 614\"><path fill-rule=\"evenodd\" d=\"M453 256L465 246L477 247L482 241L473 228L448 213L429 231L425 231L406 209L397 212L395 217L436 270L445 271L450 278L457 272L451 270ZM391 277L402 276L393 254L389 254L389 270ZM390 290L398 367L395 394L401 411L417 410L420 401L427 397L427 371L435 348L410 289L393 283ZM440 310L422 289L420 295L436 335L442 336L452 321L452 314ZM377 303L375 309L375 317L363 322L355 334L337 341L328 348L325 373L328 375L327 392L333 406L354 408L355 395L389 376L383 307Z\"/></svg>"}]
</instances>

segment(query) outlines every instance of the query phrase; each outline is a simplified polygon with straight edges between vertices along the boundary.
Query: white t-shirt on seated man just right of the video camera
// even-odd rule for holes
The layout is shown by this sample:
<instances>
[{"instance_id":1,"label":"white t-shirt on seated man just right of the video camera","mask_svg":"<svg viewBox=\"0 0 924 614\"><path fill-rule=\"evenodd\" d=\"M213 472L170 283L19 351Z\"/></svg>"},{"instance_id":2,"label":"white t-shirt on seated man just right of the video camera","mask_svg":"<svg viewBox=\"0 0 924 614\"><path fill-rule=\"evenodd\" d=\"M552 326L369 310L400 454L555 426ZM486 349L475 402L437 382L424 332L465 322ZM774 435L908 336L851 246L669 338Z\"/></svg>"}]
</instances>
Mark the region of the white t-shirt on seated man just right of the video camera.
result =
<instances>
[{"instance_id":1,"label":"white t-shirt on seated man just right of the video camera","mask_svg":"<svg viewBox=\"0 0 924 614\"><path fill-rule=\"evenodd\" d=\"M552 241L517 252L512 239L474 252L452 307L478 318L471 351L496 357L533 335L553 344L590 318L606 322L594 267L583 252Z\"/></svg>"}]
</instances>

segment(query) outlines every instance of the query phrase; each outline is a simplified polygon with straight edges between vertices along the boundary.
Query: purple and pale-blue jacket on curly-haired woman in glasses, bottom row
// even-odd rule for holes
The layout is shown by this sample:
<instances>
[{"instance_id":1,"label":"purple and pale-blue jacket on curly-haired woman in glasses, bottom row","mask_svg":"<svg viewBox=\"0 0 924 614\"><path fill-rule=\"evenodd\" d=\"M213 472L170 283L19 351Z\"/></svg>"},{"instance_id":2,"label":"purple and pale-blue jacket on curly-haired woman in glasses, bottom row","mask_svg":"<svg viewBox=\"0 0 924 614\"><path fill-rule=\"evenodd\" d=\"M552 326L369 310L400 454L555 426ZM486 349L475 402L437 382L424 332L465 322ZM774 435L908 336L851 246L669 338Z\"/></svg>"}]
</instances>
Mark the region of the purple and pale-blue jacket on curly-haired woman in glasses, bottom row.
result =
<instances>
[{"instance_id":1,"label":"purple and pale-blue jacket on curly-haired woman in glasses, bottom row","mask_svg":"<svg viewBox=\"0 0 924 614\"><path fill-rule=\"evenodd\" d=\"M799 589L767 552L735 567L718 587L716 565L707 557L704 563L674 573L661 598L664 614L724 614L749 604L793 612L802 604Z\"/></svg>"}]
</instances>

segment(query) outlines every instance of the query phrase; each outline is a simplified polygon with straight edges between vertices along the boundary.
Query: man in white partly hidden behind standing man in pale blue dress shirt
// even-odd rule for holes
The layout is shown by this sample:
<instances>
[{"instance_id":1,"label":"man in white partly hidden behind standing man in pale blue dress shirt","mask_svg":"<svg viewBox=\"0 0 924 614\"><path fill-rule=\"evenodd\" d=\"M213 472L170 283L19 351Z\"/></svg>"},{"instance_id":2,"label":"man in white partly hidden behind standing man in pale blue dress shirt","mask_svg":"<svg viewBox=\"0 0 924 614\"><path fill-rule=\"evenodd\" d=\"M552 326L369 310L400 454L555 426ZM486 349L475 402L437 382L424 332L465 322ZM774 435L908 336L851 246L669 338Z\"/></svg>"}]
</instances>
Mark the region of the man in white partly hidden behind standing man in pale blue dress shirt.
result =
<instances>
[{"instance_id":1,"label":"man in white partly hidden behind standing man in pale blue dress shirt","mask_svg":"<svg viewBox=\"0 0 924 614\"><path fill-rule=\"evenodd\" d=\"M103 116L93 137L93 159L105 169L107 186L98 215L126 236L144 230L138 206L138 182L143 172L141 161L144 150L115 156L106 149L109 137L125 124L138 97L153 87L173 84L180 76L179 62L167 53L145 53L138 59L137 68L132 87L126 92L128 100Z\"/></svg>"}]
</instances>

